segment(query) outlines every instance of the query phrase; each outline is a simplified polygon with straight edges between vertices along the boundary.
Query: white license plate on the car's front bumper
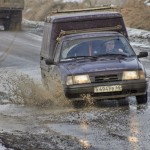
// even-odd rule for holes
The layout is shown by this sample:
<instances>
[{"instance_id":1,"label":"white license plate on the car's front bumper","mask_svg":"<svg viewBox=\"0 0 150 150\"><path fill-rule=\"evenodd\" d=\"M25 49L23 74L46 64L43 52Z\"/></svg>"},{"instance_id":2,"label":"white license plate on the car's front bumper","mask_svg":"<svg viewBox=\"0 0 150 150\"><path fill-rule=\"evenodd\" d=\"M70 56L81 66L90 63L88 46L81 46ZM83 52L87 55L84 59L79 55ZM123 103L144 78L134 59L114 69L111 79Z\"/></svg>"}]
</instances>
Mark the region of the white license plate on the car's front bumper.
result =
<instances>
[{"instance_id":1,"label":"white license plate on the car's front bumper","mask_svg":"<svg viewBox=\"0 0 150 150\"><path fill-rule=\"evenodd\" d=\"M122 86L121 85L112 85L112 86L94 87L94 93L116 92L116 91L122 91Z\"/></svg>"}]
</instances>

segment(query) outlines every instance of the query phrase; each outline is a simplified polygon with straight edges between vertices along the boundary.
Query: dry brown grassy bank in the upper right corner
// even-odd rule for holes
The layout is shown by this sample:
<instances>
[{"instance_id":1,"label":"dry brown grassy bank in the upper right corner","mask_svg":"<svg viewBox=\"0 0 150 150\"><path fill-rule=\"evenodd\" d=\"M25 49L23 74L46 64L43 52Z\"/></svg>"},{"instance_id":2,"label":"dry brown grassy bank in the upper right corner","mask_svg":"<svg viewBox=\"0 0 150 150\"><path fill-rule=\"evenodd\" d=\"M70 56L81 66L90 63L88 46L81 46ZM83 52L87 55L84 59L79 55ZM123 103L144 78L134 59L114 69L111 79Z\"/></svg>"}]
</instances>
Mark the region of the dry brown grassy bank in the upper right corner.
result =
<instances>
[{"instance_id":1,"label":"dry brown grassy bank in the upper right corner","mask_svg":"<svg viewBox=\"0 0 150 150\"><path fill-rule=\"evenodd\" d=\"M121 14L128 27L150 31L150 7L144 4L144 0L128 0Z\"/></svg>"}]
</instances>

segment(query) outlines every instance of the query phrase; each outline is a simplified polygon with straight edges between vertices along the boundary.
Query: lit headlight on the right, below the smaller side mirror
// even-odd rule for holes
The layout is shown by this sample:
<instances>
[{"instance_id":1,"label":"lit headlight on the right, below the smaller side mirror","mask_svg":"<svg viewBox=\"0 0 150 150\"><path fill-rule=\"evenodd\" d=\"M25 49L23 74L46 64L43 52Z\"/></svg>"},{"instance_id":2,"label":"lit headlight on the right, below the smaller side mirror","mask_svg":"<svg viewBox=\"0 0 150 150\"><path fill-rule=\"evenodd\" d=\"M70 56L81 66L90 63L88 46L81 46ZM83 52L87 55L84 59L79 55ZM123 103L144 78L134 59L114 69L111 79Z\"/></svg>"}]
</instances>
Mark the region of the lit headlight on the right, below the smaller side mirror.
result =
<instances>
[{"instance_id":1,"label":"lit headlight on the right, below the smaller side mirror","mask_svg":"<svg viewBox=\"0 0 150 150\"><path fill-rule=\"evenodd\" d=\"M138 80L145 79L144 72L141 71L124 71L122 75L122 80Z\"/></svg>"}]
</instances>

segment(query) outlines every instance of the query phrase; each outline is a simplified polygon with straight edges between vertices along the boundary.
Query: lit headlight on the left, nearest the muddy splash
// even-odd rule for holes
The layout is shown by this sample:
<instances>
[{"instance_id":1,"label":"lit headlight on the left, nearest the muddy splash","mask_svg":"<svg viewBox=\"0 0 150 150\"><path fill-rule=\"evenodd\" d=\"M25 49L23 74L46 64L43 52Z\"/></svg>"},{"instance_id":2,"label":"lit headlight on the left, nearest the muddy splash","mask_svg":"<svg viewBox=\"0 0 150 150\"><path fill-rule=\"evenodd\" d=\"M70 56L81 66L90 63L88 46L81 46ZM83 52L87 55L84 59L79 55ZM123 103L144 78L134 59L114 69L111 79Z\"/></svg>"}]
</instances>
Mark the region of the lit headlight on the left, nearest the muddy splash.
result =
<instances>
[{"instance_id":1,"label":"lit headlight on the left, nearest the muddy splash","mask_svg":"<svg viewBox=\"0 0 150 150\"><path fill-rule=\"evenodd\" d=\"M91 83L89 75L76 75L67 77L67 85Z\"/></svg>"}]
</instances>

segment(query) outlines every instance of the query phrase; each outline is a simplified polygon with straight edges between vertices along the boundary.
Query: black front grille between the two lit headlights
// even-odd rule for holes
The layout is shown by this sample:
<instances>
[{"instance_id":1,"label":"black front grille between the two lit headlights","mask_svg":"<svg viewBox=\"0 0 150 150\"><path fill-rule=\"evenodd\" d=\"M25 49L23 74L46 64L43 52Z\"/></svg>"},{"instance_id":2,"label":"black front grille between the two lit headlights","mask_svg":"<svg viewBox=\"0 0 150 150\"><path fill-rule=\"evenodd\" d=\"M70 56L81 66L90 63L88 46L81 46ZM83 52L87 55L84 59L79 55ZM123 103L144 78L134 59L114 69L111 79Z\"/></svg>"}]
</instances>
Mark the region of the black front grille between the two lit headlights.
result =
<instances>
[{"instance_id":1,"label":"black front grille between the two lit headlights","mask_svg":"<svg viewBox=\"0 0 150 150\"><path fill-rule=\"evenodd\" d=\"M95 76L95 83L119 81L118 75Z\"/></svg>"}]
</instances>

